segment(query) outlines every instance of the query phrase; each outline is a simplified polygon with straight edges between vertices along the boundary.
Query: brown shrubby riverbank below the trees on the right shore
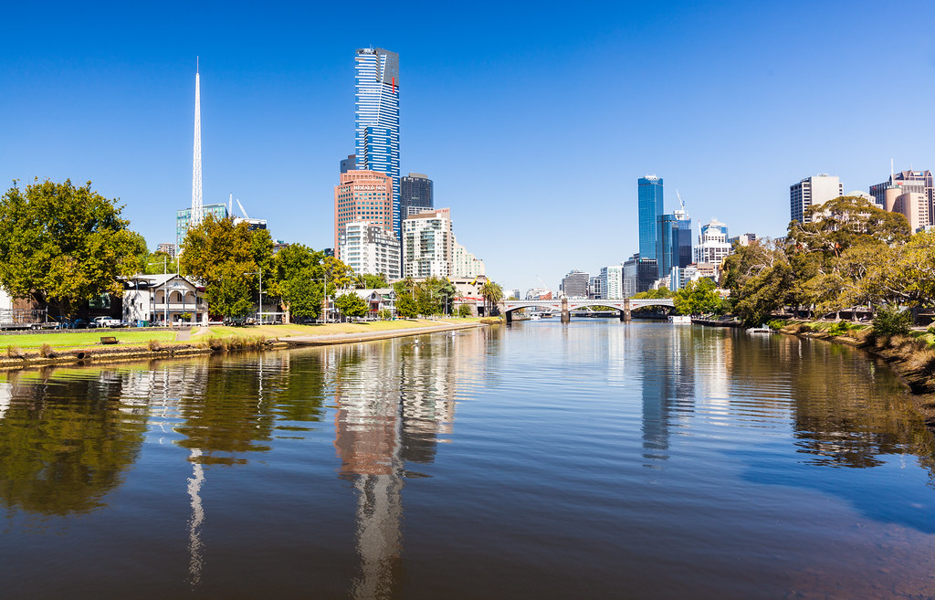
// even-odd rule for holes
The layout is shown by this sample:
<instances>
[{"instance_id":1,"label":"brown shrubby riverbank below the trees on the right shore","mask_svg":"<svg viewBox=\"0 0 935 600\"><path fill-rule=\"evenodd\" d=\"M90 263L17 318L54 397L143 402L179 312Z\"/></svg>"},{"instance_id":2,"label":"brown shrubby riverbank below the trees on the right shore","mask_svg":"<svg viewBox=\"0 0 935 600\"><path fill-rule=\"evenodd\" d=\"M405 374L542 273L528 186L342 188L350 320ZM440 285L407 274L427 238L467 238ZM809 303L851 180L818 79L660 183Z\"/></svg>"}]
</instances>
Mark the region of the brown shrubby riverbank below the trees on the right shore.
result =
<instances>
[{"instance_id":1,"label":"brown shrubby riverbank below the trees on the right shore","mask_svg":"<svg viewBox=\"0 0 935 600\"><path fill-rule=\"evenodd\" d=\"M906 382L916 408L935 430L935 327L913 330L885 315L873 325L848 321L770 321L784 334L847 344L883 358Z\"/></svg>"}]
</instances>

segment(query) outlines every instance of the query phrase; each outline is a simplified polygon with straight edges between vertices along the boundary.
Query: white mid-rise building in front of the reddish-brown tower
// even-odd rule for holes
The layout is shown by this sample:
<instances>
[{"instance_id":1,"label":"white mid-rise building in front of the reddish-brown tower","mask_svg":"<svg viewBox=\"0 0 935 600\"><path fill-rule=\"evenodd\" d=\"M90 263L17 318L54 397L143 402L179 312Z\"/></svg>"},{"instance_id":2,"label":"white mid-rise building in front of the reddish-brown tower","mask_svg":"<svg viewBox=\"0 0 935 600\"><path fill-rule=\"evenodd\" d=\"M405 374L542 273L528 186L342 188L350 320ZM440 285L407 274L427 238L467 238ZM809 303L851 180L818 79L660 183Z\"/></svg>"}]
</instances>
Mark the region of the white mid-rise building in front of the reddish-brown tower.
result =
<instances>
[{"instance_id":1,"label":"white mid-rise building in front of the reddish-brown tower","mask_svg":"<svg viewBox=\"0 0 935 600\"><path fill-rule=\"evenodd\" d=\"M400 279L399 240L392 231L367 221L352 221L338 236L338 255L356 275Z\"/></svg>"}]
</instances>

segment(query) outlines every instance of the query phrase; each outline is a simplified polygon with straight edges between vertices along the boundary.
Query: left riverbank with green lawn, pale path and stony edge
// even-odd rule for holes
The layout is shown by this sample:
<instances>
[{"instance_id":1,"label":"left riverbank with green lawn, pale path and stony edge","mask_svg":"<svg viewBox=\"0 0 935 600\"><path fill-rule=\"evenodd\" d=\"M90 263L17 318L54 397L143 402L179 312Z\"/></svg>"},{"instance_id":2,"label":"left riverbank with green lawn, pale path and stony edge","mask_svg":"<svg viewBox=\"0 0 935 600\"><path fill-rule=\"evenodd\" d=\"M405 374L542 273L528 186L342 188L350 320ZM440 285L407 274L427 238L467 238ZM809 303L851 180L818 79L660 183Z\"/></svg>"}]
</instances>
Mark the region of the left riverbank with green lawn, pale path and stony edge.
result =
<instances>
[{"instance_id":1,"label":"left riverbank with green lawn, pale path and stony edge","mask_svg":"<svg viewBox=\"0 0 935 600\"><path fill-rule=\"evenodd\" d=\"M117 363L173 358L238 350L275 350L299 346L350 344L392 337L422 336L490 324L482 319L427 319L327 323L318 325L258 325L198 327L190 331L96 330L56 332L42 336L2 336L6 347L0 370L57 364ZM114 337L105 345L101 337Z\"/></svg>"}]
</instances>

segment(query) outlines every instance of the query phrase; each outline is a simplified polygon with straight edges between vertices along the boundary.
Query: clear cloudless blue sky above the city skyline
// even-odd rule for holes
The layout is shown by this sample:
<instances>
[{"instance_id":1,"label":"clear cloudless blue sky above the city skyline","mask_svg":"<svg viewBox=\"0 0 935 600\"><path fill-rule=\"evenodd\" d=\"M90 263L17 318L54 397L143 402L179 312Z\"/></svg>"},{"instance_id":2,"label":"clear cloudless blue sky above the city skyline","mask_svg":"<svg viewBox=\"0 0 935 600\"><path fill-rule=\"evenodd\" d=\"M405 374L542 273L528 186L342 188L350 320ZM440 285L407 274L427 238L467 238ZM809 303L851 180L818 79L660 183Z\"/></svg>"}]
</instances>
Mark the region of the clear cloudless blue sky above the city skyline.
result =
<instances>
[{"instance_id":1,"label":"clear cloudless blue sky above the city skyline","mask_svg":"<svg viewBox=\"0 0 935 600\"><path fill-rule=\"evenodd\" d=\"M196 7L194 7L196 5ZM354 12L354 8L357 8ZM381 12L384 10L391 12ZM695 221L782 236L789 185L935 168L927 2L17 3L0 37L0 177L91 179L151 248L205 203L332 244L353 51L400 56L401 169L435 180L504 288L638 249L637 179Z\"/></svg>"}]
</instances>

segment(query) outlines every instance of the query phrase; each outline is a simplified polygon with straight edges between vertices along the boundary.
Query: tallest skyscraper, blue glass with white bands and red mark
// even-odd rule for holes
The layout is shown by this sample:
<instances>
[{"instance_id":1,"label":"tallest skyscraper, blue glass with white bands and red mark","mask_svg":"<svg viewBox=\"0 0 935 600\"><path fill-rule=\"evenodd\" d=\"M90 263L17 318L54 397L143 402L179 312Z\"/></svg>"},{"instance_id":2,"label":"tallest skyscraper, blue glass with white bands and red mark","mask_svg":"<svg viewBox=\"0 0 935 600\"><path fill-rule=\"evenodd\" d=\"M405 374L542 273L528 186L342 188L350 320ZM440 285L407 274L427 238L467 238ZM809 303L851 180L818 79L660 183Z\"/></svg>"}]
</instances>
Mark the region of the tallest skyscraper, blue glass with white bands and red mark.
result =
<instances>
[{"instance_id":1,"label":"tallest skyscraper, blue glass with white bands and red mark","mask_svg":"<svg viewBox=\"0 0 935 600\"><path fill-rule=\"evenodd\" d=\"M399 55L381 48L357 50L354 80L356 166L392 179L392 228L399 237Z\"/></svg>"}]
</instances>

